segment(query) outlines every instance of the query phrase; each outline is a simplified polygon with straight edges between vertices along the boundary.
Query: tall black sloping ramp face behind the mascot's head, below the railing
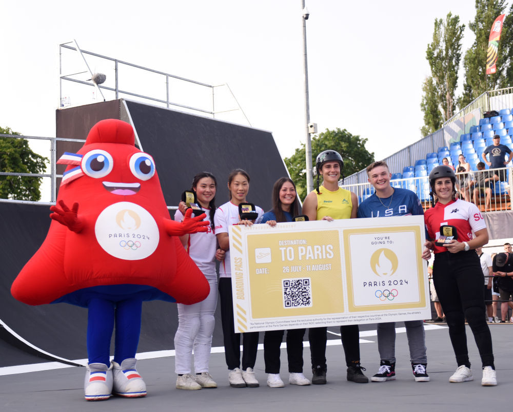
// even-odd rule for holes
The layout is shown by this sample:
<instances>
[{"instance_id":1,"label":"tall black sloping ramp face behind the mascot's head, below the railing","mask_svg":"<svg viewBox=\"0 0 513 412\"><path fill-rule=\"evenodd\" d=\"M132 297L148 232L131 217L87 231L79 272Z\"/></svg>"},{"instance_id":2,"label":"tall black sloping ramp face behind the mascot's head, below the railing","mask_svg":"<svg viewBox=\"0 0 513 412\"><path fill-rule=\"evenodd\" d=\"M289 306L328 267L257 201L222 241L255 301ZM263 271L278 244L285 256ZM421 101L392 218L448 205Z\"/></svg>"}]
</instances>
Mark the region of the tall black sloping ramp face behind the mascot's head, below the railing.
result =
<instances>
[{"instance_id":1,"label":"tall black sloping ramp face behind the mascot's head, below the railing","mask_svg":"<svg viewBox=\"0 0 513 412\"><path fill-rule=\"evenodd\" d=\"M265 211L271 208L272 185L288 173L270 132L126 103L143 150L155 160L166 204L177 204L193 176L209 171L218 180L215 197L221 205L228 201L228 174L241 168L251 179L248 201Z\"/></svg>"}]
</instances>

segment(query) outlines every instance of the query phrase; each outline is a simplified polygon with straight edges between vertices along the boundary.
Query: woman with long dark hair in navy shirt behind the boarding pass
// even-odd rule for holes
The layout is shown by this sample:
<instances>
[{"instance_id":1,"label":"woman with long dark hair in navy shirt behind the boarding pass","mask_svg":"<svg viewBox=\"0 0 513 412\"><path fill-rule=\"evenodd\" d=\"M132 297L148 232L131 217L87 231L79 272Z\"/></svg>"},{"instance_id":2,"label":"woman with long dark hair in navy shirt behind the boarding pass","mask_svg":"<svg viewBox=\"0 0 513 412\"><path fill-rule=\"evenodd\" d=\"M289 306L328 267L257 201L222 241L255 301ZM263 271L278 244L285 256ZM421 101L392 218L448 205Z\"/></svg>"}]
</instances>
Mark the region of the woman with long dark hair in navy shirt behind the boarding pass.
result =
<instances>
[{"instance_id":1,"label":"woman with long dark hair in navy shirt behind the boarding pass","mask_svg":"<svg viewBox=\"0 0 513 412\"><path fill-rule=\"evenodd\" d=\"M272 188L272 209L266 212L258 223L275 226L277 222L292 222L299 215L298 195L295 184L288 177L278 179ZM287 330L287 359L289 383L291 385L309 385L310 381L303 375L303 336L306 328ZM280 378L280 345L284 335L281 331L266 331L264 335L264 361L267 386L284 387Z\"/></svg>"}]
</instances>

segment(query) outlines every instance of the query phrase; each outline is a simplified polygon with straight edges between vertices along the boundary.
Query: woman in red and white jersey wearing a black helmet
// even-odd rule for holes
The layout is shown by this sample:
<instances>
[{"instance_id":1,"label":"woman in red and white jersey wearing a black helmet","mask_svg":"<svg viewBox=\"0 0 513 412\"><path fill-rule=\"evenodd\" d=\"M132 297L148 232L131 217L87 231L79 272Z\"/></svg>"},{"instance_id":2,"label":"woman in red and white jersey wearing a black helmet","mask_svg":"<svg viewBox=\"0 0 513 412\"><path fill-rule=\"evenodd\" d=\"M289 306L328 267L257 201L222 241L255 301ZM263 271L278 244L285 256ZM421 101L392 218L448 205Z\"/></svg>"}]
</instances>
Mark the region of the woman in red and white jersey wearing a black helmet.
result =
<instances>
[{"instance_id":1,"label":"woman in red and white jersey wearing a black helmet","mask_svg":"<svg viewBox=\"0 0 513 412\"><path fill-rule=\"evenodd\" d=\"M456 199L456 175L447 166L437 166L429 173L434 207L424 214L429 238L423 257L429 249L435 252L433 282L449 326L449 336L456 355L458 369L449 382L471 381L465 319L472 330L483 364L483 386L497 385L491 335L485 320L483 272L476 248L488 242L483 216L475 204ZM443 245L443 226L455 235ZM474 235L472 235L472 232ZM433 240L434 239L434 240ZM438 240L436 242L435 240Z\"/></svg>"}]
</instances>

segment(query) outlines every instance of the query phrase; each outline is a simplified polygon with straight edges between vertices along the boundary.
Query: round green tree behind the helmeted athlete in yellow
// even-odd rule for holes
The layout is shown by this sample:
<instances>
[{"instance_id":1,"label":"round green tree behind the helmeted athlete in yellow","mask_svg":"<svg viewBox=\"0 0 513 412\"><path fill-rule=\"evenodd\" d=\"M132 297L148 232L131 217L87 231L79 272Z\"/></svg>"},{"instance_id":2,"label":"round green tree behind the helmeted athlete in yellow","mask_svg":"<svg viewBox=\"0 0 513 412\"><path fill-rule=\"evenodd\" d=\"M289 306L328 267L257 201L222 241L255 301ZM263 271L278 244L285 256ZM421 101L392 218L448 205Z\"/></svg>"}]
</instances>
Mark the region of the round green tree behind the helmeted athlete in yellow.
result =
<instances>
[{"instance_id":1,"label":"round green tree behind the helmeted athlete in yellow","mask_svg":"<svg viewBox=\"0 0 513 412\"><path fill-rule=\"evenodd\" d=\"M367 139L353 136L346 129L326 129L325 132L312 138L312 164L315 166L315 158L322 151L336 150L344 159L344 175L349 176L365 169L374 161L374 153L369 153L365 149L365 143L367 143ZM308 194L306 192L305 158L305 144L301 143L301 147L296 149L292 156L284 159L300 199L304 199Z\"/></svg>"}]
</instances>

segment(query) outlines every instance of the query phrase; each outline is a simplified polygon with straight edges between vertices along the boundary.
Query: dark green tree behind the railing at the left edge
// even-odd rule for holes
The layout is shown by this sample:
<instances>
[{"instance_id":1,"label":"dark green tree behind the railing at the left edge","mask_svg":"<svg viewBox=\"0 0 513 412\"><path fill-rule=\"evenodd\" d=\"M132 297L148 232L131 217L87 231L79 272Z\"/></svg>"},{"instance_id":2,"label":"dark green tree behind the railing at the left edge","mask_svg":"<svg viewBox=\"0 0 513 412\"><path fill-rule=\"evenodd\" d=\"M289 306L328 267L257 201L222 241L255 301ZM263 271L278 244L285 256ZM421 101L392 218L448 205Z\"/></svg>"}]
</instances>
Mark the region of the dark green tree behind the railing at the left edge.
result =
<instances>
[{"instance_id":1,"label":"dark green tree behind the railing at the left edge","mask_svg":"<svg viewBox=\"0 0 513 412\"><path fill-rule=\"evenodd\" d=\"M0 127L0 134L15 134ZM0 137L0 170L11 173L44 173L46 157L30 150L27 139ZM41 177L0 176L0 198L16 200L41 199Z\"/></svg>"}]
</instances>

